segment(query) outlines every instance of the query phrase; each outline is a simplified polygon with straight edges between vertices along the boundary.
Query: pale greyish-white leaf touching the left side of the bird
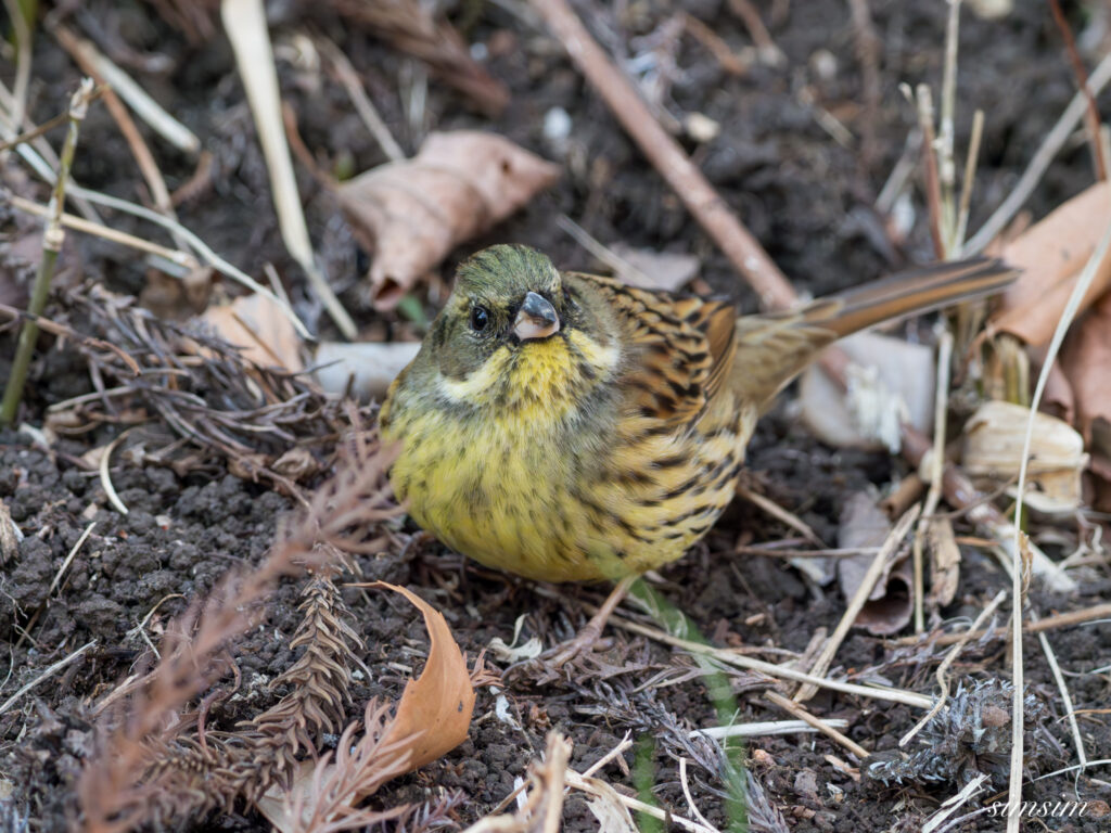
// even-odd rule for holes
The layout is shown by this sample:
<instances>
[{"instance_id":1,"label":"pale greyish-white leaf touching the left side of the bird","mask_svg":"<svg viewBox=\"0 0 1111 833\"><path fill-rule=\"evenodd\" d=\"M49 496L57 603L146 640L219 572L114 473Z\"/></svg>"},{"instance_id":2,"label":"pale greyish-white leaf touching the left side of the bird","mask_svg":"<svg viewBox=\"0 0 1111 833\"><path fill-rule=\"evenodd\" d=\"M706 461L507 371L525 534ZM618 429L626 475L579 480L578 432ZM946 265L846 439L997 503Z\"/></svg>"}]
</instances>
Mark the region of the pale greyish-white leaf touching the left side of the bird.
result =
<instances>
[{"instance_id":1,"label":"pale greyish-white leaf touching the left side of the bird","mask_svg":"<svg viewBox=\"0 0 1111 833\"><path fill-rule=\"evenodd\" d=\"M324 341L317 348L314 375L324 393L369 402L386 397L390 382L420 350L417 341Z\"/></svg>"}]
</instances>

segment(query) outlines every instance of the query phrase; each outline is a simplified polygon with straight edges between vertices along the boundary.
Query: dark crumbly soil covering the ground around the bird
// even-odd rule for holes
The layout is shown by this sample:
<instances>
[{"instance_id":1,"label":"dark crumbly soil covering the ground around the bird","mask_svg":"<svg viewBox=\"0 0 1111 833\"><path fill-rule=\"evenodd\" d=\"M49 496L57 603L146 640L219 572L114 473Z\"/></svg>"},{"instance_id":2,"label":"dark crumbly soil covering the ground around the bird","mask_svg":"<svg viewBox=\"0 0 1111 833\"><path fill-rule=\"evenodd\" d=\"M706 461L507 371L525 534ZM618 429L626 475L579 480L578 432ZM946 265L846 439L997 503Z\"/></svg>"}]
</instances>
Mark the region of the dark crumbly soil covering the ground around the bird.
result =
<instances>
[{"instance_id":1,"label":"dark crumbly soil covering the ground around the bird","mask_svg":"<svg viewBox=\"0 0 1111 833\"><path fill-rule=\"evenodd\" d=\"M329 334L327 317L309 299L303 275L284 253L270 201L261 153L254 141L250 111L238 80L230 48L222 34L203 46L190 43L157 11L157 4L91 2L82 21L97 21L102 40L127 43L138 52L164 58L162 71L131 67L139 82L187 123L216 160L209 188L180 207L182 222L212 249L253 275L272 262L306 320ZM449 4L450 6L450 4ZM708 241L652 168L615 124L600 99L569 64L560 49L528 18L504 9L516 3L458 3L452 16L466 20L469 42L486 44L490 72L512 91L512 102L498 119L486 119L468 109L458 93L430 81L423 121L410 119L402 99L416 66L356 27L342 22L327 3L273 3L274 38L311 28L329 34L363 73L368 90L386 121L407 151L419 145L426 128L480 127L507 134L527 148L565 162L564 175L484 239L460 249L442 275L450 281L459 258L488 243L520 241L549 252L568 268L597 269L557 225L567 213L603 242L623 241L637 247L677 249L697 253L702 277L714 291L732 294L748 310L754 295L743 288L723 255ZM590 3L591 8L601 3ZM671 4L655 1L620 4L620 18L588 16L595 34L608 48L632 53L671 16ZM718 0L687 0L682 6L702 19L734 49L751 43L745 28ZM700 112L721 126L707 144L688 141L688 149L728 203L738 212L800 291L828 292L872 279L901 263L929 258L924 209L915 198L918 220L901 245L890 242L871 208L885 178L902 153L912 127L912 110L898 84L940 80L945 3L873 0L871 13L880 43L881 97L869 116L862 92L861 68L854 51L849 11L841 0L775 2L762 8L771 34L785 53L781 67L755 64L742 78L731 77L689 36L681 39L678 70L668 110L678 116ZM595 9L597 11L597 9ZM1100 14L1093 4L1071 10L1078 32L1095 32ZM1087 29L1090 27L1091 29ZM219 29L219 26L217 26ZM1081 38L1087 43L1091 40ZM1097 40L1100 40L1097 37ZM638 46L640 44L640 46ZM1085 58L1104 51L1092 49ZM103 48L106 47L102 43ZM958 84L957 145L963 148L977 108L987 116L983 151L977 178L970 228L978 228L1013 185L1074 90L1074 81L1060 46L1060 36L1047 7L1017 3L1001 21L987 21L965 11L960 38L961 73ZM337 160L354 171L384 161L338 84L311 69L279 61L282 93L298 113L306 144L323 168ZM11 82L11 64L0 67ZM34 51L30 114L37 123L61 112L78 81L78 72L50 34L39 31ZM1101 100L1104 112L1107 100ZM573 130L562 151L546 140L544 114L563 108ZM842 147L821 127L820 113L835 116L852 141ZM414 127L416 126L416 127ZM861 139L874 137L870 158L862 155ZM60 136L60 133L51 134ZM182 184L192 163L150 139L170 188ZM4 169L4 184L44 201L44 193L26 174L17 173L12 157ZM417 328L393 315L369 309L361 290L357 252L334 201L303 170L301 194L310 227L334 285L360 325L373 338L413 333ZM103 107L96 106L81 133L74 177L87 187L128 199L146 198L138 169L127 144ZM1029 208L1035 217L1077 193L1091 181L1088 149L1082 142L1049 170ZM29 269L26 245L17 243L24 221L10 209L2 222L8 233L0 241L0 289L26 287ZM113 224L149 233L123 215ZM97 281L117 292L149 291L147 271L130 252L70 235L62 259L62 283ZM23 290L26 291L26 289ZM0 293L2 294L2 293ZM421 294L429 313L440 300L438 291ZM0 298L0 301L6 301ZM51 314L48 307L47 315ZM80 321L71 324L80 331ZM14 329L0 333L0 377L7 378L14 349ZM93 389L84 361L72 343L43 338L31 369L20 422L41 428L46 409ZM847 452L824 446L794 423L791 408L781 404L761 426L751 444L751 469L759 490L798 513L819 535L837 538L841 509L854 492L875 484L885 488L907 471L901 460L887 454ZM157 425L148 425L157 428ZM164 429L163 429L164 430ZM167 621L190 601L203 595L227 570L257 563L271 544L278 519L291 501L264 485L233 475L219 458L203 468L160 468L137 464L141 454L126 453L140 443L129 436L116 452L111 480L130 513L121 515L107 500L94 468L82 462L91 449L102 449L118 431L100 428L88 435L57 439L48 448L32 430L0 432L0 500L24 538L18 553L0 562L0 655L10 662L0 674L0 703L38 678L43 670L90 642L96 645L60 673L31 688L0 713L0 809L11 791L19 816L29 816L34 831L60 831L77 817L74 784L82 760L93 746L92 707L121 680L149 659L150 641ZM96 528L64 571L58 586L52 581L67 554L91 523ZM394 535L406 538L404 528ZM959 533L971 533L958 524ZM1054 555L1068 554L1078 544L1072 520L1053 528ZM738 501L719 528L681 562L662 570L659 592L684 611L703 634L718 644L768 649L763 659L781 662L777 649L801 652L819 628L832 630L844 601L832 588L820 590L785 562L732 555L734 543L764 542L794 533L754 506ZM1095 539L1097 541L1099 539ZM961 586L942 618L974 616L1009 579L984 551L962 546ZM374 558L363 558L366 579L404 584L436 604L447 616L468 655L473 658L500 636L511 641L514 622L524 616L521 640L540 635L546 645L570 636L585 621L581 601L597 603L598 588L559 588L557 593L510 576L491 573L466 562L436 543L413 548L402 556L400 545ZM1043 615L1103 601L1109 576L1085 582L1071 598L1034 592L1032 601ZM276 700L266 684L296 659L289 640L300 621L300 586L283 583L270 599L264 626L251 631L236 649L241 689L218 702L209 716L212 726L229 729ZM353 612L352 624L368 650L363 658L374 675L354 689L357 697L396 696L404 682L397 665L420 665L427 640L420 616L392 596L344 591ZM629 613L630 616L639 614ZM714 725L718 716L707 688L688 674L690 656L620 631L608 631L614 645L598 666L588 665L570 679L534 688L528 682L506 691L509 717L496 714L496 694L489 688L478 695L470 737L461 746L420 772L387 785L374 799L381 806L400 802L434 802L449 791L462 801L454 814L467 825L490 812L526 774L530 761L544 747L544 736L558 729L574 742L571 764L582 771L615 746L627 731L634 737L657 739L654 766L657 801L679 815L690 816L678 777L677 756L687 754L685 733ZM1111 757L1111 730L1107 704L1111 683L1105 666L1111 656L1111 624L1094 623L1049 634L1065 674L1073 707L1083 716L1080 729L1090 760ZM1032 770L1049 771L1075 763L1064 706L1044 654L1035 639L1025 642L1025 679L1031 691L1049 704L1044 723L1062 750L1060 760L1031 762ZM895 651L884 641L853 632L835 660L835 668L852 680L890 683L932 694L933 672L942 649ZM504 664L488 655L488 662ZM7 664L0 661L0 669ZM1093 669L1103 668L1103 671ZM971 680L1008 679L1005 645L1000 640L972 644L953 668L955 676ZM645 685L645 683L651 684ZM664 684L670 683L670 684ZM737 722L783 717L760 692L765 684L739 672L731 678L737 692ZM849 721L845 733L874 751L893 750L898 739L920 716L907 706L861 700L829 692L810 701L821 716ZM352 716L361 711L361 702ZM1087 712L1087 713L1085 713ZM829 762L848 753L821 735L797 734L753 739L747 766L779 807L792 830L911 831L962 783L905 783L884 786L858 780ZM598 774L621 790L631 789L624 761L612 762ZM692 790L700 810L718 825L725 824L721 782L695 761ZM1092 773L1095 777L1092 777ZM1111 785L1095 780L1105 773L1092 770L1077 782L1081 801L1111 800ZM1005 777L995 782L1005 790ZM1030 801L1077 799L1071 776L1057 776L1027 787ZM1105 806L1105 805L1104 805ZM965 807L965 812L970 807ZM224 816L223 829L264 829L258 815ZM194 820L196 822L197 820ZM583 799L572 793L564 810L568 830L593 830L597 822ZM1051 830L1107 830L1107 820L1045 819ZM1033 823L1031 823L1033 824ZM6 826L8 825L8 826ZM182 822L184 829L190 826ZM19 830L4 821L0 830ZM960 826L961 831L1002 830L1002 822L987 815Z\"/></svg>"}]
</instances>

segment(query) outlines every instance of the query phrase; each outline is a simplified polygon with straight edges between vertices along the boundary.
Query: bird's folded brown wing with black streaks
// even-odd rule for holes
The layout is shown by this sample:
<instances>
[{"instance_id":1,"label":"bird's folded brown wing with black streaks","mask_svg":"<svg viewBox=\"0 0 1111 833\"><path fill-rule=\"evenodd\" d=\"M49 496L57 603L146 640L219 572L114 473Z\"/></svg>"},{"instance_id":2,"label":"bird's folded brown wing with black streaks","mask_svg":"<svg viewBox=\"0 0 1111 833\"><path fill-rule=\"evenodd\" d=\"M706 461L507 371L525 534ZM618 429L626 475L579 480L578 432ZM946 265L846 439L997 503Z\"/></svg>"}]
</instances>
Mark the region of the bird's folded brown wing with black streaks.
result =
<instances>
[{"instance_id":1,"label":"bird's folded brown wing with black streaks","mask_svg":"<svg viewBox=\"0 0 1111 833\"><path fill-rule=\"evenodd\" d=\"M621 385L631 408L667 426L695 422L730 377L733 307L674 298L597 275L574 277L598 287L623 325L628 367Z\"/></svg>"}]
</instances>

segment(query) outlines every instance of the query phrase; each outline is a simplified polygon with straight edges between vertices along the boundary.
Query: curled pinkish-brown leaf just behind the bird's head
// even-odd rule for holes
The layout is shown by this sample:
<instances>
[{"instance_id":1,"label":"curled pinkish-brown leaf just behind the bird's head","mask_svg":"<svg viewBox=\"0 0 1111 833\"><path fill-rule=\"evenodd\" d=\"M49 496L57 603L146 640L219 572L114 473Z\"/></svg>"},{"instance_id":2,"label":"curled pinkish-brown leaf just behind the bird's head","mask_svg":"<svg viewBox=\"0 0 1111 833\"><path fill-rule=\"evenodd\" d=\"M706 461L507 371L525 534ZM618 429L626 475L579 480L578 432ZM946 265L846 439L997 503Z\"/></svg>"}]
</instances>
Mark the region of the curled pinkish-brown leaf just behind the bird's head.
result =
<instances>
[{"instance_id":1,"label":"curled pinkish-brown leaf just behind the bird's head","mask_svg":"<svg viewBox=\"0 0 1111 833\"><path fill-rule=\"evenodd\" d=\"M376 307L396 305L456 245L509 217L559 172L504 137L460 130L431 133L412 159L339 185L356 238L373 252Z\"/></svg>"}]
</instances>

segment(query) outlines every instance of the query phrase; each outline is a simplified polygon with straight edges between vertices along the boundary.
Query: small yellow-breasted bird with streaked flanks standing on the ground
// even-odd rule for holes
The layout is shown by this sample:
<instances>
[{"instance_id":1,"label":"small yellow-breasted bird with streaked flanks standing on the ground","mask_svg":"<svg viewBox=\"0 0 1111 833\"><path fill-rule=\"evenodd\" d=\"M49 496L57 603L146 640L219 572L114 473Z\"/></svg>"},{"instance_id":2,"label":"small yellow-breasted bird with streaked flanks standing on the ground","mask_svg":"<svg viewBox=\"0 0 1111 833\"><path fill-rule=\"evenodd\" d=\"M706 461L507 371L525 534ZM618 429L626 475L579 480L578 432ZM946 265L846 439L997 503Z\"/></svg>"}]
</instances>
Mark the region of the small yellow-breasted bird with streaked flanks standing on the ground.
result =
<instances>
[{"instance_id":1,"label":"small yellow-breasted bird with streaked flanks standing on the ground","mask_svg":"<svg viewBox=\"0 0 1111 833\"><path fill-rule=\"evenodd\" d=\"M1015 274L979 257L739 315L725 301L492 245L459 265L387 392L390 482L423 530L486 566L617 583L563 661L597 641L637 576L709 532L759 416L823 348L998 292Z\"/></svg>"}]
</instances>

